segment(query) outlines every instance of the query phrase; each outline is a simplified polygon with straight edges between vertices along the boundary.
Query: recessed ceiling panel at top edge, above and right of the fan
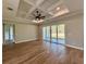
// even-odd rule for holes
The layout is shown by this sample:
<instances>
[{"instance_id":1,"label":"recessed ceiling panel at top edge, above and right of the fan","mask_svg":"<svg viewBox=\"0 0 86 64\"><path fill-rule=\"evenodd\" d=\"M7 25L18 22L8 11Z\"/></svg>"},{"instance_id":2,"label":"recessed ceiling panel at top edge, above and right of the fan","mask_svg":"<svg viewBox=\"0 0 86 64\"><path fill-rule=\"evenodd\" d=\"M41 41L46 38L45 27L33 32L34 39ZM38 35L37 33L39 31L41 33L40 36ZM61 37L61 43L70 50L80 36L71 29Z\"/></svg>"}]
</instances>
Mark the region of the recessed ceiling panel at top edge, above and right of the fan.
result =
<instances>
[{"instance_id":1,"label":"recessed ceiling panel at top edge, above and right of the fan","mask_svg":"<svg viewBox=\"0 0 86 64\"><path fill-rule=\"evenodd\" d=\"M52 7L53 4L58 3L60 0L45 0L41 4L40 8L46 10Z\"/></svg>"}]
</instances>

